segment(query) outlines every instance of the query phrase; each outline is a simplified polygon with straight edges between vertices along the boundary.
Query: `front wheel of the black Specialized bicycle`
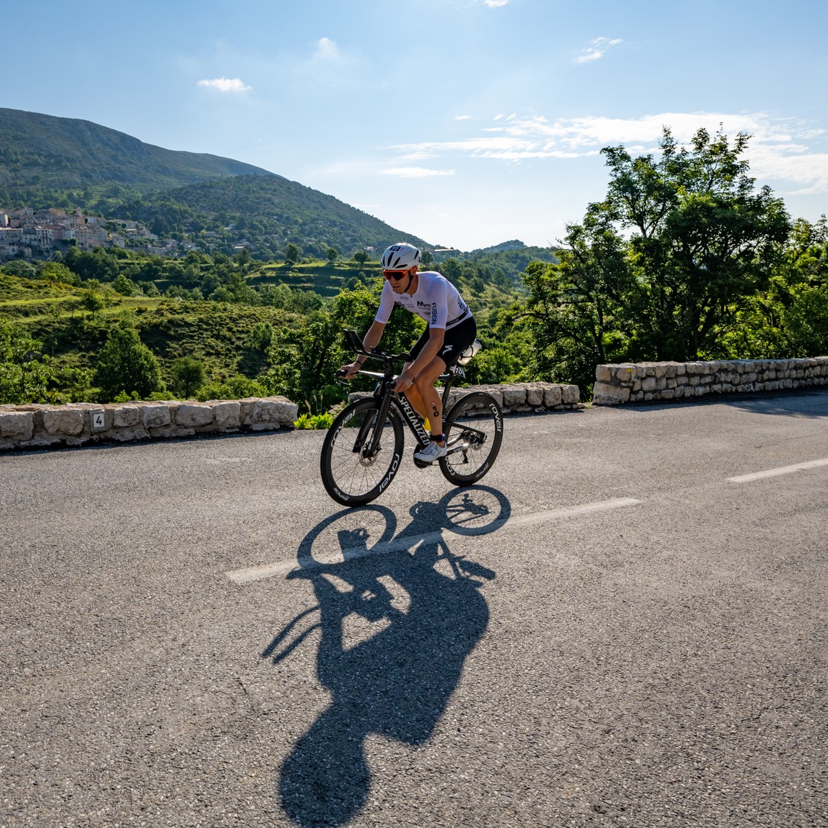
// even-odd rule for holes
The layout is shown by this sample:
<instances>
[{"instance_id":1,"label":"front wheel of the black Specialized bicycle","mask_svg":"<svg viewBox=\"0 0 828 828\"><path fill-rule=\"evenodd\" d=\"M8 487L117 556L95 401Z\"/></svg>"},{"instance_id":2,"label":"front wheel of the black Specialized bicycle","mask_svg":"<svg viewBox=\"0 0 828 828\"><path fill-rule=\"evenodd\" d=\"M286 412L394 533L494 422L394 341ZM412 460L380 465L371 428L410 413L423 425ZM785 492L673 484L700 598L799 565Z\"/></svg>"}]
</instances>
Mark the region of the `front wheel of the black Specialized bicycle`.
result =
<instances>
[{"instance_id":1,"label":"front wheel of the black Specialized bicycle","mask_svg":"<svg viewBox=\"0 0 828 828\"><path fill-rule=\"evenodd\" d=\"M379 422L379 401L345 407L322 444L320 471L325 491L343 506L362 506L394 479L402 460L402 423L393 408Z\"/></svg>"}]
</instances>

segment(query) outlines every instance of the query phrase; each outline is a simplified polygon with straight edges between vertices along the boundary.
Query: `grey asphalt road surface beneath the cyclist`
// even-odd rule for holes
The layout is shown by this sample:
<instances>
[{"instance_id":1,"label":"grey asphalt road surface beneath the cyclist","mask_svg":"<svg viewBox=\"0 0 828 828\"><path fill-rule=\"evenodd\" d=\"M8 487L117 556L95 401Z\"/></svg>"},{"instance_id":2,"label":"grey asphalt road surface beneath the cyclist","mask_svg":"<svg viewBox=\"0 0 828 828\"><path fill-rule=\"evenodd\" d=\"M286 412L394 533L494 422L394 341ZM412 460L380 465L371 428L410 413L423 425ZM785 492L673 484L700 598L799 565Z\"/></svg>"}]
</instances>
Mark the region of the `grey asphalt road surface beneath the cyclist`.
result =
<instances>
[{"instance_id":1,"label":"grey asphalt road surface beneath the cyclist","mask_svg":"<svg viewBox=\"0 0 828 828\"><path fill-rule=\"evenodd\" d=\"M828 826L828 391L0 455L0 826ZM773 474L764 474L773 472Z\"/></svg>"}]
</instances>

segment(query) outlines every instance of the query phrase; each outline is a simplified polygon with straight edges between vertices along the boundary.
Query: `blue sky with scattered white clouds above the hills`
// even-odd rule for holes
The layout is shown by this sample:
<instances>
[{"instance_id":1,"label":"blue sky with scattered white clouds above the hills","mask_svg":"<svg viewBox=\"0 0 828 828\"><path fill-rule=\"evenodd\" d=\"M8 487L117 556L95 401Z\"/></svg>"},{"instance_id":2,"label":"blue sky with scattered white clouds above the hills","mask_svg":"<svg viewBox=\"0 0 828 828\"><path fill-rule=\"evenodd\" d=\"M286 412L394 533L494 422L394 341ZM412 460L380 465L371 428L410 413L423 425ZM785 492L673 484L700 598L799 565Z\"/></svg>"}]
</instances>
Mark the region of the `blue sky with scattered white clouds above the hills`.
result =
<instances>
[{"instance_id":1,"label":"blue sky with scattered white clouds above the hills","mask_svg":"<svg viewBox=\"0 0 828 828\"><path fill-rule=\"evenodd\" d=\"M401 240L554 245L606 194L601 148L657 152L665 126L749 133L757 185L792 218L828 212L825 0L43 0L3 19L0 106L246 161Z\"/></svg>"}]
</instances>

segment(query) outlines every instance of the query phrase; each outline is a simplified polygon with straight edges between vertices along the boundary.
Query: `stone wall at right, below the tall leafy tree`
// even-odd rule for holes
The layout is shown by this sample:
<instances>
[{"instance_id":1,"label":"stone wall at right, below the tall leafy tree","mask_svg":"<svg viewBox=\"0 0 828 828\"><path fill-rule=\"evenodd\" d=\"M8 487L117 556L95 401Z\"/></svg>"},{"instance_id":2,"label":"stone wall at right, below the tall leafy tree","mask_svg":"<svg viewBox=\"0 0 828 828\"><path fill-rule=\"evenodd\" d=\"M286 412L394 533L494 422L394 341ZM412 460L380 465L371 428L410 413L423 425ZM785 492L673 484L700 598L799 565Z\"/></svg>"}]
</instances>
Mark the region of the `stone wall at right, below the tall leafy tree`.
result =
<instances>
[{"instance_id":1,"label":"stone wall at right, below the tall leafy tree","mask_svg":"<svg viewBox=\"0 0 828 828\"><path fill-rule=\"evenodd\" d=\"M596 406L616 406L812 385L828 385L828 357L624 363L595 368L592 402Z\"/></svg>"}]
</instances>

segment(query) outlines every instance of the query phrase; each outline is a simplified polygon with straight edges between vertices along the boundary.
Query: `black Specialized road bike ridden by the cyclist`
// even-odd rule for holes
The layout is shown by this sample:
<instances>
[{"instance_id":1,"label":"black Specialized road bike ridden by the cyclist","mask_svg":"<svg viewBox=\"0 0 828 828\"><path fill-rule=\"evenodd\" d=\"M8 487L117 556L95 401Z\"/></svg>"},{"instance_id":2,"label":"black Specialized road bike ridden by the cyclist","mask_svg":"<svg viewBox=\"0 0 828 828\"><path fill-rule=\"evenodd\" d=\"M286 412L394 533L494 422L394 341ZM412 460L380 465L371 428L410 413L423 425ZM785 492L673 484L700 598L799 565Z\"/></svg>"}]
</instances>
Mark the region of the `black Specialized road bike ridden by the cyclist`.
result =
<instances>
[{"instance_id":1,"label":"black Specialized road bike ridden by the cyclist","mask_svg":"<svg viewBox=\"0 0 828 828\"><path fill-rule=\"evenodd\" d=\"M394 392L394 366L410 361L411 354L368 351L353 330L345 330L345 339L356 354L383 363L383 373L359 371L377 378L373 396L355 400L339 412L322 444L320 471L325 490L337 503L362 506L382 494L397 474L405 441L403 423L414 435L415 451L428 445L431 436L407 398ZM461 359L468 363L471 355ZM464 376L460 365L440 376L444 412L452 384ZM437 462L445 479L455 486L477 483L492 468L503 440L498 401L484 391L465 394L444 414L443 434L445 457ZM420 468L431 465L416 457L414 463Z\"/></svg>"}]
</instances>

